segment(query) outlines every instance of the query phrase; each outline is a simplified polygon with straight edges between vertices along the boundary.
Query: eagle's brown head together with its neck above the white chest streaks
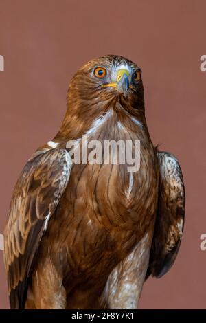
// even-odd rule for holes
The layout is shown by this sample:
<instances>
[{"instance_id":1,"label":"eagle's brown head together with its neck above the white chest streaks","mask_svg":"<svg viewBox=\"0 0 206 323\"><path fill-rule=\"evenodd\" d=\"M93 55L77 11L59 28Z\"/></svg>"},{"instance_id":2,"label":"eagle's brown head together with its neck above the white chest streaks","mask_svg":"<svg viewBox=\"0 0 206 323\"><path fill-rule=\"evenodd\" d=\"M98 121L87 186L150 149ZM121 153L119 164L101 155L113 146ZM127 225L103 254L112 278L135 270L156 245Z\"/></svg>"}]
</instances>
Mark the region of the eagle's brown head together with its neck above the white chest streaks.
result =
<instances>
[{"instance_id":1,"label":"eagle's brown head together with its neck above the white chest streaks","mask_svg":"<svg viewBox=\"0 0 206 323\"><path fill-rule=\"evenodd\" d=\"M122 56L95 58L76 72L69 84L60 133L76 137L109 109L117 114L144 115L141 69Z\"/></svg>"}]
</instances>

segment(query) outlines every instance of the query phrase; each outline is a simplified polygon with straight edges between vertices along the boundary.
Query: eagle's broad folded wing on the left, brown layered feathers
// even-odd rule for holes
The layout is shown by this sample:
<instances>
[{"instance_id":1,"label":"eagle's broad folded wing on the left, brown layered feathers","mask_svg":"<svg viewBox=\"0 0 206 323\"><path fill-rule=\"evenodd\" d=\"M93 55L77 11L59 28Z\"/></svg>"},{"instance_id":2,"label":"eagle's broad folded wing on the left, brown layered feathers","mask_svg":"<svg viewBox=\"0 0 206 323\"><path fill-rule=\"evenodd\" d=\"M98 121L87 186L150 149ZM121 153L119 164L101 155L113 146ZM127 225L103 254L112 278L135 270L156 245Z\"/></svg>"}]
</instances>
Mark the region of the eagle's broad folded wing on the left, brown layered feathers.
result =
<instances>
[{"instance_id":1,"label":"eagle's broad folded wing on the left, brown layered feathers","mask_svg":"<svg viewBox=\"0 0 206 323\"><path fill-rule=\"evenodd\" d=\"M24 308L34 256L47 221L65 191L70 171L69 153L65 149L51 149L27 162L14 187L4 232L4 261L12 309Z\"/></svg>"}]
</instances>

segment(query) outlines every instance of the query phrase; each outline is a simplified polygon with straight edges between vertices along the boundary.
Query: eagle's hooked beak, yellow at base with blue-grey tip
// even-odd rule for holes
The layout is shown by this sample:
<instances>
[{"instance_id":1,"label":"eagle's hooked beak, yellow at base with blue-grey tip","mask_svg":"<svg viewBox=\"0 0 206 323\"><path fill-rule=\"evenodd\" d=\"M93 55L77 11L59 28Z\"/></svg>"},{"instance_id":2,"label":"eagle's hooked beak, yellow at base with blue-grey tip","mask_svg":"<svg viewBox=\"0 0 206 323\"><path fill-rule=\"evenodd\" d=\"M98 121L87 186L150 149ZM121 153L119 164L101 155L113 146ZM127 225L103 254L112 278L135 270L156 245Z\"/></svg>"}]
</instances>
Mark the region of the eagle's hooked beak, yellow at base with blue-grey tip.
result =
<instances>
[{"instance_id":1,"label":"eagle's hooked beak, yellow at base with blue-grey tip","mask_svg":"<svg viewBox=\"0 0 206 323\"><path fill-rule=\"evenodd\" d=\"M119 92L123 93L125 98L128 98L128 90L131 87L129 77L130 74L127 69L119 69L116 82L103 84L102 87L116 87Z\"/></svg>"}]
</instances>

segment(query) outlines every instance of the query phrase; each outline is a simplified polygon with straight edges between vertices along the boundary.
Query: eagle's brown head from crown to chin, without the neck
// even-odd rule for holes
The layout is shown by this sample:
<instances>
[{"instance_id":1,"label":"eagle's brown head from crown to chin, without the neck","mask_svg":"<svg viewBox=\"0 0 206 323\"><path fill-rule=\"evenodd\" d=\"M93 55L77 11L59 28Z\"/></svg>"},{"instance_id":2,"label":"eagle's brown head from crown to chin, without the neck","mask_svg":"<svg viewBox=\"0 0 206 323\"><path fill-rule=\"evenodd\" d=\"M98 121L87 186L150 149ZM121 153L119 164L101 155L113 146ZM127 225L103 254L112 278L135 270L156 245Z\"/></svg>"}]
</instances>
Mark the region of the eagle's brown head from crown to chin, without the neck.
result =
<instances>
[{"instance_id":1,"label":"eagle's brown head from crown to chin, without the neck","mask_svg":"<svg viewBox=\"0 0 206 323\"><path fill-rule=\"evenodd\" d=\"M90 60L73 76L68 96L78 95L93 103L97 98L109 100L119 96L141 105L144 88L141 69L122 56L107 55Z\"/></svg>"}]
</instances>

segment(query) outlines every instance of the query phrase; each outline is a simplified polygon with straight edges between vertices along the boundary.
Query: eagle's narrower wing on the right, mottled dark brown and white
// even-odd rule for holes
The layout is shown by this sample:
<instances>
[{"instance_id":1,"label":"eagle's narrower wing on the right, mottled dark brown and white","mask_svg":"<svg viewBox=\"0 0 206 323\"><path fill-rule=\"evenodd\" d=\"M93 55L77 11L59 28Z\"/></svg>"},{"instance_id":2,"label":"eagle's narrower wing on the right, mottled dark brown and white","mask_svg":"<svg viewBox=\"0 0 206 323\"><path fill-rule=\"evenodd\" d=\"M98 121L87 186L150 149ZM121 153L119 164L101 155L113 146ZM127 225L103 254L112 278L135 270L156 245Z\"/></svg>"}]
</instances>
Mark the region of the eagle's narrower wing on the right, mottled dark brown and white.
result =
<instances>
[{"instance_id":1,"label":"eagle's narrower wing on the right, mottled dark brown and white","mask_svg":"<svg viewBox=\"0 0 206 323\"><path fill-rule=\"evenodd\" d=\"M185 188L179 161L170 153L158 152L160 183L157 219L147 277L160 278L170 270L183 235Z\"/></svg>"}]
</instances>

